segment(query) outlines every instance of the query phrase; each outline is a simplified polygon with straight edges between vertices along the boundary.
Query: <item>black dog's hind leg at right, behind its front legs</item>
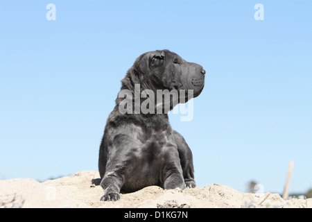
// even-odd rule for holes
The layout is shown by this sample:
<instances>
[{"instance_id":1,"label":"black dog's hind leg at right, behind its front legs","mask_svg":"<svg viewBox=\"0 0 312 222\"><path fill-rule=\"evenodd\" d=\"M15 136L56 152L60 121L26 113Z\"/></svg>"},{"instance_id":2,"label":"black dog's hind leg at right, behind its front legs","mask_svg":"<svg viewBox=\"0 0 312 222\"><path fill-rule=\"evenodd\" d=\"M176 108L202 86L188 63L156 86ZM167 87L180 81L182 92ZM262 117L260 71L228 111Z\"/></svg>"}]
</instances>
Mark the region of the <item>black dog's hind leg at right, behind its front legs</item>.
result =
<instances>
[{"instance_id":1,"label":"black dog's hind leg at right, behind its front legs","mask_svg":"<svg viewBox=\"0 0 312 222\"><path fill-rule=\"evenodd\" d=\"M194 180L193 155L191 149L180 133L173 131L173 135L175 136L177 151L179 152L185 185L190 188L196 187L196 182Z\"/></svg>"}]
</instances>

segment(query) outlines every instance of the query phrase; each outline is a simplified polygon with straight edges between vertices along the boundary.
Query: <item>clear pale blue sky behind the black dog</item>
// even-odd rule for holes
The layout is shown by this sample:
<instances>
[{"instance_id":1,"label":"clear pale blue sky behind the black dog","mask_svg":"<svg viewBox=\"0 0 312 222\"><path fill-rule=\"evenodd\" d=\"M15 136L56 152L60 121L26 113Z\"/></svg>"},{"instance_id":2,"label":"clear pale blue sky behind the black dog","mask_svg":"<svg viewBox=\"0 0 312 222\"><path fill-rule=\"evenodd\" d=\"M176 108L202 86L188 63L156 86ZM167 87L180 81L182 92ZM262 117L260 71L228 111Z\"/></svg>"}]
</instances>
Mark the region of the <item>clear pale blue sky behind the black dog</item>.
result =
<instances>
[{"instance_id":1,"label":"clear pale blue sky behind the black dog","mask_svg":"<svg viewBox=\"0 0 312 222\"><path fill-rule=\"evenodd\" d=\"M46 5L56 20L46 19ZM254 5L264 20L254 19ZM312 187L311 1L1 1L0 179L97 170L120 80L146 51L207 71L192 121L170 115L197 185Z\"/></svg>"}]
</instances>

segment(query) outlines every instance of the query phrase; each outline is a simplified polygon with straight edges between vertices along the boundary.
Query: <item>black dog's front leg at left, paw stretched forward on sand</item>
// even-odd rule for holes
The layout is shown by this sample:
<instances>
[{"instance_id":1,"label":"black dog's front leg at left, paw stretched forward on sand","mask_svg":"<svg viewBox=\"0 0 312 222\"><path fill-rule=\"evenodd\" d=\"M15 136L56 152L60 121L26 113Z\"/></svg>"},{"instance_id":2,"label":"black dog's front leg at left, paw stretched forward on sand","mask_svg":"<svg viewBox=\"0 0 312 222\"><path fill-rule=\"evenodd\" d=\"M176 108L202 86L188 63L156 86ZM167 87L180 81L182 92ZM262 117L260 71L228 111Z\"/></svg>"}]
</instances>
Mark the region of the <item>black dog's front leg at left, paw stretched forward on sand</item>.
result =
<instances>
[{"instance_id":1,"label":"black dog's front leg at left, paw stretched forward on sand","mask_svg":"<svg viewBox=\"0 0 312 222\"><path fill-rule=\"evenodd\" d=\"M106 130L101 144L99 169L101 187L105 190L101 200L119 200L119 192L132 175L133 167L142 146L139 139L141 128L137 126L119 126Z\"/></svg>"}]
</instances>

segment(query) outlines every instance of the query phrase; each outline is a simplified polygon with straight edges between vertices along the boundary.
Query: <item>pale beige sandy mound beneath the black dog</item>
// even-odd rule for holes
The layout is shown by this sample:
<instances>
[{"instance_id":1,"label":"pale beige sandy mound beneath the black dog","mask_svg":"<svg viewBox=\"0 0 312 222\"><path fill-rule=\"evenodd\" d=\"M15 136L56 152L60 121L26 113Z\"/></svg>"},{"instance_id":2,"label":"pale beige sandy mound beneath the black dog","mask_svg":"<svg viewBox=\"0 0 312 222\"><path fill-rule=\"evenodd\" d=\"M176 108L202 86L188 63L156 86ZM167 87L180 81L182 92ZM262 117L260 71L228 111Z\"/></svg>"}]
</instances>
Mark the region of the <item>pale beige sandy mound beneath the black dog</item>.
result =
<instances>
[{"instance_id":1,"label":"pale beige sandy mound beneath the black dog","mask_svg":"<svg viewBox=\"0 0 312 222\"><path fill-rule=\"evenodd\" d=\"M284 200L279 194L245 194L223 185L164 190L152 186L121 194L116 202L100 201L103 189L93 185L97 171L37 182L32 179L0 180L1 207L312 207L307 200Z\"/></svg>"}]
</instances>

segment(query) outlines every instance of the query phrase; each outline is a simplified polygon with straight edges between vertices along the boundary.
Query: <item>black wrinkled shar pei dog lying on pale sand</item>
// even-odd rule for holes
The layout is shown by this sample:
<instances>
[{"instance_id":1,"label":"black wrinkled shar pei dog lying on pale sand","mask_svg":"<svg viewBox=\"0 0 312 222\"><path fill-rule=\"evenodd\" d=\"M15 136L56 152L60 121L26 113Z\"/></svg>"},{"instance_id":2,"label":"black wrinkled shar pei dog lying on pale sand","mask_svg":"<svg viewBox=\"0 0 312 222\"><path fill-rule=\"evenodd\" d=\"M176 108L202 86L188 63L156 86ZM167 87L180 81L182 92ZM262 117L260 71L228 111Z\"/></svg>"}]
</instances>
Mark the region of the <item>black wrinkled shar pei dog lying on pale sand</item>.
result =
<instances>
[{"instance_id":1,"label":"black wrinkled shar pei dog lying on pale sand","mask_svg":"<svg viewBox=\"0 0 312 222\"><path fill-rule=\"evenodd\" d=\"M168 114L158 112L159 107L164 111L164 104L150 99L148 108L153 110L155 103L154 113L132 112L136 105L142 105L142 99L132 98L136 87L140 93L149 89L155 95L157 89L192 90L196 97L202 92L204 82L202 66L187 62L171 51L150 51L137 58L121 80L121 92L131 93L126 108L130 112L120 112L125 99L119 96L106 122L98 159L101 187L105 189L101 200L119 200L121 189L137 191L151 185L164 189L196 187L191 150L182 135L172 130ZM189 96L178 94L177 103L188 100ZM171 99L170 109L174 105Z\"/></svg>"}]
</instances>

